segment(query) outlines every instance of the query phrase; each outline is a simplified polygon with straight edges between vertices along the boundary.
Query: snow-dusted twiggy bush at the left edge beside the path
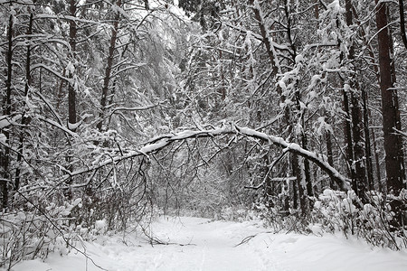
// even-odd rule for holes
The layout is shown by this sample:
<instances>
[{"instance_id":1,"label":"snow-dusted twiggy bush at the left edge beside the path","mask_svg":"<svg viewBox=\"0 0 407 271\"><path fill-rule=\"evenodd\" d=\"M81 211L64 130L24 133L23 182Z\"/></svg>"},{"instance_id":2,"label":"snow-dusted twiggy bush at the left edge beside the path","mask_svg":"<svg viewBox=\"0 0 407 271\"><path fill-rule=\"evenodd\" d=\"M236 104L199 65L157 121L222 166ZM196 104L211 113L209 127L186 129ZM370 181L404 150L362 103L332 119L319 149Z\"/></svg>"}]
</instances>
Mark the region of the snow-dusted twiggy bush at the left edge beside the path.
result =
<instances>
[{"instance_id":1,"label":"snow-dusted twiggy bush at the left edge beside the path","mask_svg":"<svg viewBox=\"0 0 407 271\"><path fill-rule=\"evenodd\" d=\"M67 254L78 242L71 210L80 207L80 199L57 206L28 206L27 210L0 214L0 267L9 270L24 259L45 258L57 252Z\"/></svg>"}]
</instances>

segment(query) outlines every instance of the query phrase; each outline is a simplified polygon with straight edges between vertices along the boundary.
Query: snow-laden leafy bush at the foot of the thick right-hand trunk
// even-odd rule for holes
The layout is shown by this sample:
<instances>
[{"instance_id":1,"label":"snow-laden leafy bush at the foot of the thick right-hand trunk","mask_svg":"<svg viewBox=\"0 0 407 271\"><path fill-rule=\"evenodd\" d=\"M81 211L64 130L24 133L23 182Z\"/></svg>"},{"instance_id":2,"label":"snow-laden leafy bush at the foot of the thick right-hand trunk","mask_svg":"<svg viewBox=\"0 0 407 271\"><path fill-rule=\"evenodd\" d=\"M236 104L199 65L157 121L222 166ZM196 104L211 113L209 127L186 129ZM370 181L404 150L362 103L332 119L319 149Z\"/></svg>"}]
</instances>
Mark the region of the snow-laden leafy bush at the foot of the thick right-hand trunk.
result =
<instances>
[{"instance_id":1,"label":"snow-laden leafy bush at the foot of the thick right-hand trunk","mask_svg":"<svg viewBox=\"0 0 407 271\"><path fill-rule=\"evenodd\" d=\"M387 199L380 192L369 192L367 199L369 202L362 203L353 191L325 190L314 204L309 229L314 233L340 231L345 236L364 238L374 246L407 248L407 228L403 224L406 214L401 213L402 219L397 220L392 208L393 201L407 204L405 191Z\"/></svg>"}]
</instances>

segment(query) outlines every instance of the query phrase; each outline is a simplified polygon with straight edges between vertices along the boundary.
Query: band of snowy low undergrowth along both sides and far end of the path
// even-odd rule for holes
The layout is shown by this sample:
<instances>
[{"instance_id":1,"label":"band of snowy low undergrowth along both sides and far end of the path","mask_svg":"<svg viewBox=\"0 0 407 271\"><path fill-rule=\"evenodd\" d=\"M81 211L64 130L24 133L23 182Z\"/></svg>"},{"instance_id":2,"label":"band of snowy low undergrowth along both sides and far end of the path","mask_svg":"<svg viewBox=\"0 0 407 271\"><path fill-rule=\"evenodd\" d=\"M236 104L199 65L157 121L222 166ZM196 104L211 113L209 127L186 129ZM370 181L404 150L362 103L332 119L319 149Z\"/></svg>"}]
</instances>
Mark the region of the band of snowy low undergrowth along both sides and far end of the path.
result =
<instances>
[{"instance_id":1,"label":"band of snowy low undergrowth along both sides and far end of the path","mask_svg":"<svg viewBox=\"0 0 407 271\"><path fill-rule=\"evenodd\" d=\"M363 238L377 247L407 248L407 192L402 191L397 198L370 192L366 199L362 203L355 192L325 190L317 198L310 199L313 204L306 215L298 210L282 211L278 204L271 208L259 202L251 208L224 206L212 212L184 209L174 210L172 214L213 220L262 220L276 233L322 235L341 232L345 237ZM148 207L146 202L138 204L137 209L134 204L115 205L117 209L110 206L110 212L103 210L109 202L94 204L89 199L60 201L59 204L52 200L34 202L29 201L13 212L0 213L0 267L6 270L21 260L44 259L51 253L66 255L72 250L81 253L78 248L83 241L92 241L115 230L131 231L141 220L151 222L154 213L163 214ZM123 215L124 212L127 215Z\"/></svg>"}]
</instances>

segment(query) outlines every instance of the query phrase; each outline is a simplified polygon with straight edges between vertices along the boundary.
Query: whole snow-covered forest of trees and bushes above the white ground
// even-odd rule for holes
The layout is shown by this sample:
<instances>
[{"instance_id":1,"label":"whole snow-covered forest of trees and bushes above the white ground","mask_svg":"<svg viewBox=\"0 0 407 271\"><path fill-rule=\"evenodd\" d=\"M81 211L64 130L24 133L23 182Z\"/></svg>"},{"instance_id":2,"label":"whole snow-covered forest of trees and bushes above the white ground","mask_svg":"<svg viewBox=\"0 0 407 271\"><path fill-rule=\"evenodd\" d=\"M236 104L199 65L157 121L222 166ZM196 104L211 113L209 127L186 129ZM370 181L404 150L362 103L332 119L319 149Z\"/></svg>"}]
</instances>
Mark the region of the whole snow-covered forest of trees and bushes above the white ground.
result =
<instances>
[{"instance_id":1,"label":"whole snow-covered forest of trees and bushes above the white ground","mask_svg":"<svg viewBox=\"0 0 407 271\"><path fill-rule=\"evenodd\" d=\"M163 215L405 250L406 10L0 0L0 269Z\"/></svg>"}]
</instances>

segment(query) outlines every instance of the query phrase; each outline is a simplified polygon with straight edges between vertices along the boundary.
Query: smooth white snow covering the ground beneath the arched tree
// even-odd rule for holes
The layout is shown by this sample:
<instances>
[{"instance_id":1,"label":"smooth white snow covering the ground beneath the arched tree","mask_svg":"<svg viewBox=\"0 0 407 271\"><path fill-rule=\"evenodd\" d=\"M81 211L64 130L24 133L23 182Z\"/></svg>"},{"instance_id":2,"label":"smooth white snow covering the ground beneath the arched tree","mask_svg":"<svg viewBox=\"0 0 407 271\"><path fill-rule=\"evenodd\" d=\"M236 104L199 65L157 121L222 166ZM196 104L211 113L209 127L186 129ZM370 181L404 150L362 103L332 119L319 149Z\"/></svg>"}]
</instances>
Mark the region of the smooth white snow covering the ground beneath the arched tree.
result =
<instances>
[{"instance_id":1,"label":"smooth white snow covering the ground beneath the arched tree","mask_svg":"<svg viewBox=\"0 0 407 271\"><path fill-rule=\"evenodd\" d=\"M99 237L86 243L88 255L109 271L136 270L407 270L407 250L371 248L343 236L272 234L260 222L225 222L163 217L152 230L168 245L151 245L142 236ZM14 271L100 270L78 253L24 261Z\"/></svg>"}]
</instances>

